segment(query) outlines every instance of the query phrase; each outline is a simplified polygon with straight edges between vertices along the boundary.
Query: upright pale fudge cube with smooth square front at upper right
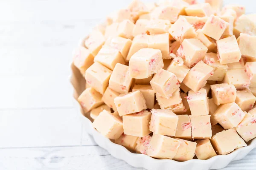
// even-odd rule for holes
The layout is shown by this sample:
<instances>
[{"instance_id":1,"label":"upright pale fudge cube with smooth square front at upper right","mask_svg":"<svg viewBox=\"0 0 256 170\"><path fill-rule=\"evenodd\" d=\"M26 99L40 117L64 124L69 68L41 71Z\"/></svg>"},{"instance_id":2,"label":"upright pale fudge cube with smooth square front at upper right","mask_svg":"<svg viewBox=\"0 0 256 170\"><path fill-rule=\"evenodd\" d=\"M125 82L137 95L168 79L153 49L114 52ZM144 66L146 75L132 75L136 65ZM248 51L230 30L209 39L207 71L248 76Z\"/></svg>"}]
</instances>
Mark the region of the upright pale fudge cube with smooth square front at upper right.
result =
<instances>
[{"instance_id":1,"label":"upright pale fudge cube with smooth square front at upper right","mask_svg":"<svg viewBox=\"0 0 256 170\"><path fill-rule=\"evenodd\" d=\"M241 52L234 35L218 40L216 43L218 59L221 64L239 62L241 59Z\"/></svg>"}]
</instances>

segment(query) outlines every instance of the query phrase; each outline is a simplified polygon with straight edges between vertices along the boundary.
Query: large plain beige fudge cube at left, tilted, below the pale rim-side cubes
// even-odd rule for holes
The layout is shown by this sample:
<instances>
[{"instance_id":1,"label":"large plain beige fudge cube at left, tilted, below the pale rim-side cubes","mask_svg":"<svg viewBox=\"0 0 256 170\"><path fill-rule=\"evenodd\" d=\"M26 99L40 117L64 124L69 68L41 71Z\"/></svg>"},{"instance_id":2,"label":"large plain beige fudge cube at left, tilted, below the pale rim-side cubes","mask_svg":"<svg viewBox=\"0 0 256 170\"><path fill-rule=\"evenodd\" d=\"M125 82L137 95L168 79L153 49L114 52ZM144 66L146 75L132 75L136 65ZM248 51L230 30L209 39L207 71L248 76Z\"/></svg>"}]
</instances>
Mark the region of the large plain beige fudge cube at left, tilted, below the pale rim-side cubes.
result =
<instances>
[{"instance_id":1,"label":"large plain beige fudge cube at left, tilted, below the pale rim-side cubes","mask_svg":"<svg viewBox=\"0 0 256 170\"><path fill-rule=\"evenodd\" d=\"M99 91L100 94L104 94L106 88L108 87L108 81L112 71L101 65L99 62L94 62L86 71L85 71L85 80L94 88L96 91Z\"/></svg>"}]
</instances>

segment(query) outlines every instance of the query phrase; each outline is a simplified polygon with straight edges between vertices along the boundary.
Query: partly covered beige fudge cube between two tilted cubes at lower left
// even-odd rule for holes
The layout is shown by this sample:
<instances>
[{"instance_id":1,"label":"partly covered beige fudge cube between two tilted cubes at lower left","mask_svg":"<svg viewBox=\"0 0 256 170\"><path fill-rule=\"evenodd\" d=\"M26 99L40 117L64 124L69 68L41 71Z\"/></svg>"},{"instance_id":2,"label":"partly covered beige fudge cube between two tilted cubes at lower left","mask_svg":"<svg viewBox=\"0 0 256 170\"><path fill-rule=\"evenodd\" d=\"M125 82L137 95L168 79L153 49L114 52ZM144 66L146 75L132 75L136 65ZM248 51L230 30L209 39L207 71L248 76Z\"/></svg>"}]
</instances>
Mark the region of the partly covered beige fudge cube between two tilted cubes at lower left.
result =
<instances>
[{"instance_id":1,"label":"partly covered beige fudge cube between two tilted cubes at lower left","mask_svg":"<svg viewBox=\"0 0 256 170\"><path fill-rule=\"evenodd\" d=\"M118 92L113 91L111 88L108 87L102 96L102 101L106 105L108 105L108 107L112 108L114 111L117 111L114 99L119 95L120 94Z\"/></svg>"}]
</instances>

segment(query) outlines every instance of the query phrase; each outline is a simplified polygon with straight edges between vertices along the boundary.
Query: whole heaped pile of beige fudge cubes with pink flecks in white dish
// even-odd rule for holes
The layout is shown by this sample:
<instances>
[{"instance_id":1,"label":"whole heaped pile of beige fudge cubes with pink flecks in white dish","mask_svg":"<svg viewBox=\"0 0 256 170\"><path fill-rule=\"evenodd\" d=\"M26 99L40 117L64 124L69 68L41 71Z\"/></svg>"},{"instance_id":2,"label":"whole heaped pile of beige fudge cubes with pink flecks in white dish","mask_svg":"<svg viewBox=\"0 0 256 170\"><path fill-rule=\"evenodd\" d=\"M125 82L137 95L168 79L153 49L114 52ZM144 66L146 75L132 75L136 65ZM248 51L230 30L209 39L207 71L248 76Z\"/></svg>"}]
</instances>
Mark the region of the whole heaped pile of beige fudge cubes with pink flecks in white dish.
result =
<instances>
[{"instance_id":1,"label":"whole heaped pile of beige fudge cubes with pink flecks in white dish","mask_svg":"<svg viewBox=\"0 0 256 170\"><path fill-rule=\"evenodd\" d=\"M247 146L256 137L255 17L222 0L133 0L74 51L84 115L112 142L157 159Z\"/></svg>"}]
</instances>

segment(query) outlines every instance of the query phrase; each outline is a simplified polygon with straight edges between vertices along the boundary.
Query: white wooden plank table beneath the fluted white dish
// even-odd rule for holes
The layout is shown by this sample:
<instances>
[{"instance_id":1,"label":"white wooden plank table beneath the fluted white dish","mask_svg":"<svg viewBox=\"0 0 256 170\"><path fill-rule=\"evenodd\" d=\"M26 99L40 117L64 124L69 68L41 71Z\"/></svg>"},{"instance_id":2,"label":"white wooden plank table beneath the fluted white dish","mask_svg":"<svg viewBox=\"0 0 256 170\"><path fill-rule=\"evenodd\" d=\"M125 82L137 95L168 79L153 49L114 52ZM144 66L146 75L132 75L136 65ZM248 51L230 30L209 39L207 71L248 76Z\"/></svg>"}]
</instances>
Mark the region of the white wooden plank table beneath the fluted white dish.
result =
<instances>
[{"instance_id":1,"label":"white wooden plank table beneath the fluted white dish","mask_svg":"<svg viewBox=\"0 0 256 170\"><path fill-rule=\"evenodd\" d=\"M113 158L87 135L68 80L79 37L128 3L0 1L0 170L141 169ZM255 170L255 162L256 150L224 170Z\"/></svg>"}]
</instances>

